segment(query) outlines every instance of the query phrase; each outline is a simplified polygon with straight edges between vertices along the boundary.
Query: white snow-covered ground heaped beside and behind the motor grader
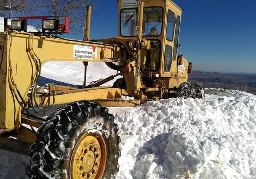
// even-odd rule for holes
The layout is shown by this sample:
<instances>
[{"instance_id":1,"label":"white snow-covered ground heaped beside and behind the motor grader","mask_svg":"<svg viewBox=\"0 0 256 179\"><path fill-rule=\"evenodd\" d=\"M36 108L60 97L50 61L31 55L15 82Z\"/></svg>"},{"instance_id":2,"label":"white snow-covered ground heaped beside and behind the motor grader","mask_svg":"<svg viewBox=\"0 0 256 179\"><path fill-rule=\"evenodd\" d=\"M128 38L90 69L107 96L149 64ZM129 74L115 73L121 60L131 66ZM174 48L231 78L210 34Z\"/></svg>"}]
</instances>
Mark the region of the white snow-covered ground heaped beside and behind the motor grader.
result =
<instances>
[{"instance_id":1,"label":"white snow-covered ground heaped beside and behind the motor grader","mask_svg":"<svg viewBox=\"0 0 256 179\"><path fill-rule=\"evenodd\" d=\"M81 62L48 62L42 77L82 85L83 69ZM87 70L88 83L116 74L104 63ZM229 95L109 108L122 139L117 178L256 178L256 96L217 90ZM28 160L0 150L0 179L23 177Z\"/></svg>"}]
</instances>

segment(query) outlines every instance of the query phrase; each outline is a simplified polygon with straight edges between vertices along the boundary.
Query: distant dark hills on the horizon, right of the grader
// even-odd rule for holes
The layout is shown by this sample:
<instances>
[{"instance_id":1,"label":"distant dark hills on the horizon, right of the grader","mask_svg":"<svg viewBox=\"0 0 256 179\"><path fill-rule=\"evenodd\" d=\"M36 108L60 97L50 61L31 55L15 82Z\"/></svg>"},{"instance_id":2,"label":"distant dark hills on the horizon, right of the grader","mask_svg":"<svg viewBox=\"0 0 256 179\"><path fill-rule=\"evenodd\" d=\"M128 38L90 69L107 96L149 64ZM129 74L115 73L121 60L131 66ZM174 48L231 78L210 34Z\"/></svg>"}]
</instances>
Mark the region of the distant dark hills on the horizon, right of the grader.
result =
<instances>
[{"instance_id":1,"label":"distant dark hills on the horizon, right of the grader","mask_svg":"<svg viewBox=\"0 0 256 179\"><path fill-rule=\"evenodd\" d=\"M220 74L193 70L188 78L190 82L203 83L206 88L237 89L256 95L256 74Z\"/></svg>"}]
</instances>

